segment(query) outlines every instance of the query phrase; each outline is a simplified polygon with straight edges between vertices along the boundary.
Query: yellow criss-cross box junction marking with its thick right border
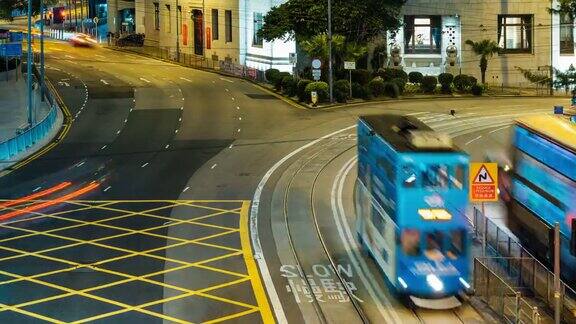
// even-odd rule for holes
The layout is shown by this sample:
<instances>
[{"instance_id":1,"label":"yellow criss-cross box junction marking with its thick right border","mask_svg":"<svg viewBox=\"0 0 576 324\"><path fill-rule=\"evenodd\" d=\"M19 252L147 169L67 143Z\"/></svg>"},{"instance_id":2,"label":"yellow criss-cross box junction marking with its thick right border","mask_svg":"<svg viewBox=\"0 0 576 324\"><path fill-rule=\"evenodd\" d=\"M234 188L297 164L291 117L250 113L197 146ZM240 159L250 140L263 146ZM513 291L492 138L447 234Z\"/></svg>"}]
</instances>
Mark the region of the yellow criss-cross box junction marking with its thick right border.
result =
<instances>
[{"instance_id":1,"label":"yellow criss-cross box junction marking with its thick right border","mask_svg":"<svg viewBox=\"0 0 576 324\"><path fill-rule=\"evenodd\" d=\"M128 209L123 209L123 208L129 208L126 206L130 206L131 204L145 204L145 203L153 203L155 206L154 208L149 208L142 211L132 211ZM216 204L219 207L214 207L214 204ZM118 205L120 205L120 207L118 207ZM46 303L49 301L57 301L71 296L82 296L90 300L95 300L98 302L113 305L118 309L103 312L96 315L91 315L87 318L75 321L76 323L86 323L103 318L114 319L114 316L127 312L140 312L149 316L166 320L168 322L189 323L189 321L181 318L176 318L172 314L162 314L157 311L153 311L150 309L150 307L154 305L161 305L171 301L187 298L190 296L195 296L233 306L232 307L234 309L233 313L231 314L226 313L226 315L208 319L207 320L208 323L222 322L253 313L259 313L262 322L264 323L274 322L274 318L272 316L272 312L268 304L268 299L266 297L262 282L260 280L260 276L250 246L249 227L248 227L248 210L250 206L250 201L245 200L80 201L79 200L79 201L67 201L66 203L62 204L62 206L66 207L66 209L63 211L58 211L54 213L32 212L31 214L33 214L33 216L25 220L11 220L9 222L0 224L0 230L4 228L4 230L17 231L22 233L21 235L18 236L13 237L11 236L8 238L0 239L0 251L2 250L9 251L12 252L13 254L7 257L0 258L0 274L9 278L0 282L0 285L28 282L49 287L51 289L59 291L59 293L57 293L56 295L51 295L49 297L39 298L35 300L29 300L15 305L0 304L0 315L2 312L12 311L46 322L63 323L64 321L62 319L51 318L44 314L38 314L37 313L38 311L33 312L29 308L27 308L27 306L41 305L42 303ZM224 208L221 206L226 207ZM25 207L24 205L12 206L8 208L0 207L0 213L7 212L10 210L18 210L24 207ZM201 211L201 213L200 215L194 215L194 217L183 219L170 218L167 216L157 215L157 212L169 208L193 208L193 210ZM90 211L91 213L101 211L105 213L107 217L99 217L97 220L85 221L81 219L75 219L73 215L69 215L72 213L82 213L88 211ZM108 215L110 216L108 217ZM133 229L129 227L123 227L120 225L113 225L112 223L110 223L111 221L118 221L130 217L142 217L143 220L154 219L155 221L158 221L158 224L160 225L150 226L148 228L142 228L142 229ZM239 226L238 227L222 226L222 225L216 225L213 222L212 223L209 222L215 217L236 217L236 219L238 219ZM50 229L51 227L48 227L47 230L34 230L26 228L25 226L19 227L19 225L26 224L27 222L30 223L31 221L43 221L43 222L64 221L66 223L69 223L69 225L64 225L62 227L54 229ZM170 236L170 233L168 231L166 231L167 233L166 235L152 232L159 229L169 229L172 226L178 226L178 225L193 225L200 228L209 229L211 231L208 231L209 234L205 234L202 237L196 237L193 239ZM97 226L99 229L103 230L114 230L114 234L110 234L108 236L105 235L103 237L97 237L90 240L84 240L60 234L60 232L65 230L75 228L82 230L82 229L89 229L90 227L93 226ZM145 235L150 239L161 239L165 243L163 243L161 246L157 246L152 249L139 251L137 249L129 249L120 246L113 246L105 242L107 240L122 238L134 234ZM238 248L221 245L218 243L214 243L213 241L207 242L210 239L224 237L228 235L239 236L240 246ZM26 240L27 238L34 238L35 236L62 240L62 242L65 243L62 243L55 247L49 247L47 249L42 249L41 247L39 247L33 251L25 251L22 250L21 248L14 248L9 246L9 243L11 241ZM36 241L35 244L38 244L37 242L38 241ZM116 253L114 254L113 257L92 262L90 264L84 264L74 261L75 258L74 254L65 257L55 257L46 254L48 252L59 250L65 251L68 248L86 246L86 245L89 245L90 247L93 248L108 249L110 251L115 251L121 254L118 255L118 253ZM188 262L185 260L170 258L168 256L162 256L164 255L164 253L162 253L161 255L154 254L154 252L158 251L168 250L177 247L186 247L191 245L194 245L197 248L206 247L209 249L218 249L223 254L214 257L208 257L206 259L194 262ZM57 270L54 270L52 268L50 271L35 273L31 275L20 275L8 271L10 268L3 266L4 262L13 261L15 259L23 257L33 257L45 260L46 262L57 262L59 265L61 265L62 268ZM125 260L132 257L145 257L163 262L165 265L163 266L163 270L161 271L155 271L152 273L146 273L142 275L134 275L122 271L105 268L105 266L107 266L112 262ZM243 258L247 271L246 274L242 273L242 270L240 270L240 272L237 272L211 264L212 262L225 260L231 257ZM168 266L168 264L170 264L171 266ZM46 277L51 275L62 274L78 270L81 268L89 269L94 272L100 272L102 274L108 274L114 276L115 279L104 284L84 289L72 289L66 287L65 286L66 284L64 285L55 284L48 282L45 279ZM191 268L212 271L214 273L222 274L229 277L225 277L226 282L217 282L216 284L213 284L211 286L202 289L189 289L186 287L180 287L178 285L163 282L162 279L159 279L160 281L154 279L155 276L162 276L174 271L186 270ZM218 289L232 287L234 285L238 285L247 281L250 282L252 289L252 291L247 292L247 294L248 295L249 293L254 294L257 303L256 305L251 305L240 300L221 297L213 293ZM141 305L129 305L119 300L97 295L98 291L101 289L120 286L126 283L139 283L139 282L148 285L156 285L160 288L168 288L175 291L175 294L173 296L172 294L169 294L170 297L148 301ZM84 307L87 308L88 306ZM241 308L242 310L238 311L238 308ZM65 314L65 311L61 313Z\"/></svg>"}]
</instances>

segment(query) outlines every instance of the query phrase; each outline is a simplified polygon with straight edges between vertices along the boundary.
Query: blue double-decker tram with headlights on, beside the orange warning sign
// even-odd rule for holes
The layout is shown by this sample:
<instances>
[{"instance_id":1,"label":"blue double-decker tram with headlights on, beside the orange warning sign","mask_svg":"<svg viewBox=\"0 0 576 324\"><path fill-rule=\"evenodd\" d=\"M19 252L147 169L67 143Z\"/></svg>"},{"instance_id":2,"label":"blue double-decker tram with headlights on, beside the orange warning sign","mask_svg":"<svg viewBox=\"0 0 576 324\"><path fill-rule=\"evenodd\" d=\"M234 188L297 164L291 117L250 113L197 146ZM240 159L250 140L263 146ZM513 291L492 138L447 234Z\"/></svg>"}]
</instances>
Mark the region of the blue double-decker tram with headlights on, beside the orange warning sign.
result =
<instances>
[{"instance_id":1,"label":"blue double-decker tram with headlights on, beside the orange warning sign","mask_svg":"<svg viewBox=\"0 0 576 324\"><path fill-rule=\"evenodd\" d=\"M415 118L359 118L358 237L416 306L457 307L470 288L468 163L450 137Z\"/></svg>"}]
</instances>

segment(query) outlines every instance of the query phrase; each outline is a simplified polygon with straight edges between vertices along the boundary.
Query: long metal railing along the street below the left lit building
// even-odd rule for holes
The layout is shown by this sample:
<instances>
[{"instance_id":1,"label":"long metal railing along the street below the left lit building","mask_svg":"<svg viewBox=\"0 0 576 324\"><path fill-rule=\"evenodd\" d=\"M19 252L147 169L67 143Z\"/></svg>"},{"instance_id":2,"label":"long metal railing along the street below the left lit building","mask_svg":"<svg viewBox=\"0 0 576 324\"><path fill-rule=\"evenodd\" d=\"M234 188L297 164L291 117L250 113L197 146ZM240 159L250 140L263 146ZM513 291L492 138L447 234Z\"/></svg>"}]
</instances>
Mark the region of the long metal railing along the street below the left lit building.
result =
<instances>
[{"instance_id":1,"label":"long metal railing along the street below the left lit building","mask_svg":"<svg viewBox=\"0 0 576 324\"><path fill-rule=\"evenodd\" d=\"M112 41L111 41L112 42ZM116 41L113 41L116 42ZM227 74L239 78L245 78L253 81L264 82L264 71L247 67L240 64L235 64L230 60L218 60L214 58L205 58L200 55L180 52L177 55L174 47L162 46L116 46L110 44L111 47L121 48L133 53L147 55L153 58L168 60L180 63L184 66L217 71L222 74Z\"/></svg>"}]
</instances>

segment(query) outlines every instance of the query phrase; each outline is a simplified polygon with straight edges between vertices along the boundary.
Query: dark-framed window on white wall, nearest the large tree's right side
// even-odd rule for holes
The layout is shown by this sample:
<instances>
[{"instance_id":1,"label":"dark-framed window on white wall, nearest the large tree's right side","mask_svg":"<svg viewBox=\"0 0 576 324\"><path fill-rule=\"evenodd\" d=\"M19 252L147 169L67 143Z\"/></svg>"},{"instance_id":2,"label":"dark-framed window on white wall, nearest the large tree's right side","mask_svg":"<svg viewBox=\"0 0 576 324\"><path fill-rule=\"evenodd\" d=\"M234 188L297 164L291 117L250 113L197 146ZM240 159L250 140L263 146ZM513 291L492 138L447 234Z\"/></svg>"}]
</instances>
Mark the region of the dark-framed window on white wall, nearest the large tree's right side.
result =
<instances>
[{"instance_id":1,"label":"dark-framed window on white wall, nearest the large tree's right side","mask_svg":"<svg viewBox=\"0 0 576 324\"><path fill-rule=\"evenodd\" d=\"M441 16L405 16L404 45L409 54L440 54Z\"/></svg>"}]
</instances>

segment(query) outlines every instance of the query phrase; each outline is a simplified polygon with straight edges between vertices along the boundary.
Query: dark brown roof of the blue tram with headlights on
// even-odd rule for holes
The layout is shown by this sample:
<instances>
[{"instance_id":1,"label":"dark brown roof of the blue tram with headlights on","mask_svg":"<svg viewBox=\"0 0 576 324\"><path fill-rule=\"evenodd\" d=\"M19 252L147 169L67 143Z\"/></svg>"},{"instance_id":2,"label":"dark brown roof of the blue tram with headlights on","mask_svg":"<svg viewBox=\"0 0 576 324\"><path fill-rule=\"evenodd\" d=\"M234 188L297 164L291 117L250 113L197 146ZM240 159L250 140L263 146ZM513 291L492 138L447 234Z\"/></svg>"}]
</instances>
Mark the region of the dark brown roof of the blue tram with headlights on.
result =
<instances>
[{"instance_id":1,"label":"dark brown roof of the blue tram with headlights on","mask_svg":"<svg viewBox=\"0 0 576 324\"><path fill-rule=\"evenodd\" d=\"M407 132L399 132L398 129L406 131L435 132L430 126L424 124L418 118L405 115L381 114L360 116L376 134L389 143L396 152L459 152L460 150L450 145L448 147L430 148L415 147L407 136Z\"/></svg>"}]
</instances>

